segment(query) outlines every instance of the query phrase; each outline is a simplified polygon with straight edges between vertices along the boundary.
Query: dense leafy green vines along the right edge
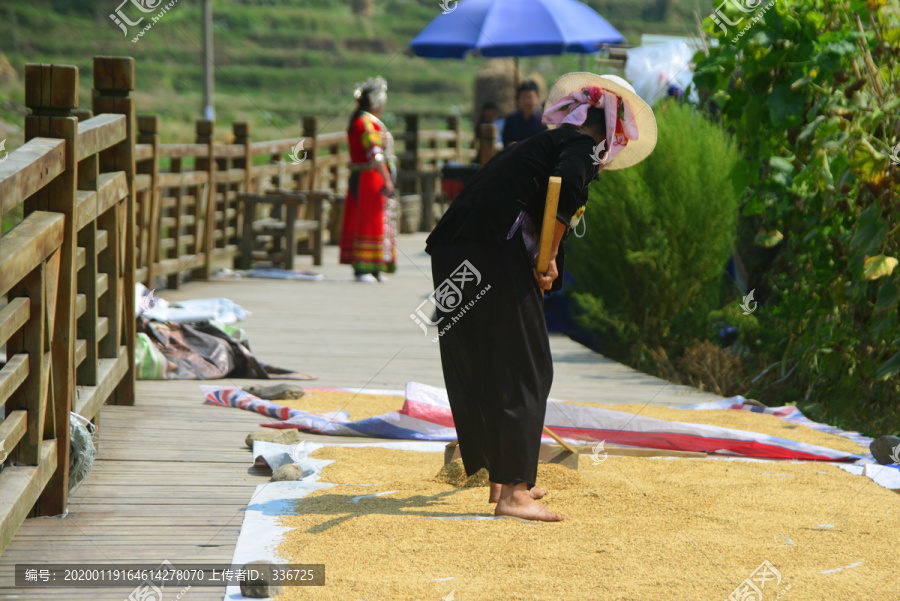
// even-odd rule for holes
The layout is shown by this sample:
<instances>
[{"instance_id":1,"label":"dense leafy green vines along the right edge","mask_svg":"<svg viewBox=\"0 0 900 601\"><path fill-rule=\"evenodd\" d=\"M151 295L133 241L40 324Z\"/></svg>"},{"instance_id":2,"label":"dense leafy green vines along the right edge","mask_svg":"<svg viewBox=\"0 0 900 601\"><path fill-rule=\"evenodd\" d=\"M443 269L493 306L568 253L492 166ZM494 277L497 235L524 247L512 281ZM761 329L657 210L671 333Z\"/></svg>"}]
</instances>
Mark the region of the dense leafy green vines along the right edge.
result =
<instances>
[{"instance_id":1,"label":"dense leafy green vines along the right edge","mask_svg":"<svg viewBox=\"0 0 900 601\"><path fill-rule=\"evenodd\" d=\"M897 4L779 0L740 38L704 27L720 46L695 57L694 81L745 153L742 231L761 235L739 251L759 302L757 363L779 367L748 394L898 431Z\"/></svg>"}]
</instances>

